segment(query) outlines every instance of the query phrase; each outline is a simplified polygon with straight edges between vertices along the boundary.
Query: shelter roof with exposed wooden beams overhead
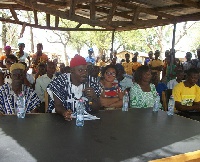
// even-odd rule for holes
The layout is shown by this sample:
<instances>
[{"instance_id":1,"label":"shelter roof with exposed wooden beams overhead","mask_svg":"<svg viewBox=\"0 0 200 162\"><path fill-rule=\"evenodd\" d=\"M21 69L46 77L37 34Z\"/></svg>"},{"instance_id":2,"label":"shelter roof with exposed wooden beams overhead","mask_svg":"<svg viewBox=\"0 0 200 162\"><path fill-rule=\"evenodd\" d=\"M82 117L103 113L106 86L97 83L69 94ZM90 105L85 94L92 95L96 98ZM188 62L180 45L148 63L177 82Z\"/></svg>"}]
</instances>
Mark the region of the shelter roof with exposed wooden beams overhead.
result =
<instances>
[{"instance_id":1,"label":"shelter roof with exposed wooden beams overhead","mask_svg":"<svg viewBox=\"0 0 200 162\"><path fill-rule=\"evenodd\" d=\"M176 22L200 20L199 0L1 0L0 9L9 9L10 18L0 17L0 21L25 24L43 29L91 30L133 30L162 26ZM34 23L20 18L17 10L32 11ZM38 23L38 13L46 14L46 24ZM55 24L50 25L50 15L55 16ZM59 20L77 22L73 29L59 27Z\"/></svg>"}]
</instances>

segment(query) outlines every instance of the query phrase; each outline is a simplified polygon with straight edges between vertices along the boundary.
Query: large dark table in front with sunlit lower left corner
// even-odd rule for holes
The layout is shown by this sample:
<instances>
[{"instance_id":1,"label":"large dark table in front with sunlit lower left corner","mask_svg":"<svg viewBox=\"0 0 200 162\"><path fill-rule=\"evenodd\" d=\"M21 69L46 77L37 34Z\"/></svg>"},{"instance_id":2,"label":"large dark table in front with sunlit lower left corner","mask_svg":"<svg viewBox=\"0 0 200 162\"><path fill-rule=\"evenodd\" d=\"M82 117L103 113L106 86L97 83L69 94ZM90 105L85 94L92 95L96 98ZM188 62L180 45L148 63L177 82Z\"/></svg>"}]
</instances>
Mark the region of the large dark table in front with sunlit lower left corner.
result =
<instances>
[{"instance_id":1,"label":"large dark table in front with sunlit lower left corner","mask_svg":"<svg viewBox=\"0 0 200 162\"><path fill-rule=\"evenodd\" d=\"M100 111L76 127L57 114L0 117L0 161L148 161L200 149L200 123L152 109Z\"/></svg>"}]
</instances>

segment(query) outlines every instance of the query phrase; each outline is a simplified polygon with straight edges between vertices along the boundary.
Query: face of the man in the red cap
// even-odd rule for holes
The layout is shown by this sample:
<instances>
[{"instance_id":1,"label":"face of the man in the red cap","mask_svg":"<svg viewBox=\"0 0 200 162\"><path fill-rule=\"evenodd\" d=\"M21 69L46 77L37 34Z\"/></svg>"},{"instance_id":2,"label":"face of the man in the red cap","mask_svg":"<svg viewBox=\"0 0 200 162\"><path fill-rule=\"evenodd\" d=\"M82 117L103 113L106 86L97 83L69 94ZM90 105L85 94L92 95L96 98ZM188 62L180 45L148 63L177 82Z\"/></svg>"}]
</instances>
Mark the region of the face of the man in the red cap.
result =
<instances>
[{"instance_id":1,"label":"face of the man in the red cap","mask_svg":"<svg viewBox=\"0 0 200 162\"><path fill-rule=\"evenodd\" d=\"M80 65L72 68L71 74L77 79L79 83L85 83L88 76L87 65Z\"/></svg>"}]
</instances>

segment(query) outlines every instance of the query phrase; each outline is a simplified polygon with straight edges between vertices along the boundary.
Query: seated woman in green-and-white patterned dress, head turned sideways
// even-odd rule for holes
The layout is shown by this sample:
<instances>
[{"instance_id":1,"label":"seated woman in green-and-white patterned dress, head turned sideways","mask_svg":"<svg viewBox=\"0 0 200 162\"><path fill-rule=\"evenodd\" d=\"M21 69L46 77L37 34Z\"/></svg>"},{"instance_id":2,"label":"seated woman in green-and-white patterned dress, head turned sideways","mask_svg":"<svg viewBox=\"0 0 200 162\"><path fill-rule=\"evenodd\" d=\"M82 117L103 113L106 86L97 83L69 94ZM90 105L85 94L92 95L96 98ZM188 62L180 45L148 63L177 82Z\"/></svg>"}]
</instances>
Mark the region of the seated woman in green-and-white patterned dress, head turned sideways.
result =
<instances>
[{"instance_id":1,"label":"seated woman in green-and-white patterned dress, head turned sideways","mask_svg":"<svg viewBox=\"0 0 200 162\"><path fill-rule=\"evenodd\" d=\"M151 77L151 70L148 66L142 65L135 71L135 83L130 90L132 108L153 107L157 92L155 85L150 83Z\"/></svg>"}]
</instances>

